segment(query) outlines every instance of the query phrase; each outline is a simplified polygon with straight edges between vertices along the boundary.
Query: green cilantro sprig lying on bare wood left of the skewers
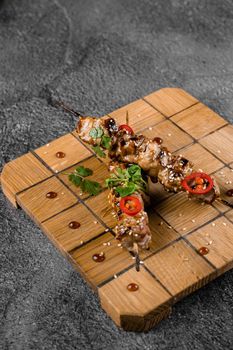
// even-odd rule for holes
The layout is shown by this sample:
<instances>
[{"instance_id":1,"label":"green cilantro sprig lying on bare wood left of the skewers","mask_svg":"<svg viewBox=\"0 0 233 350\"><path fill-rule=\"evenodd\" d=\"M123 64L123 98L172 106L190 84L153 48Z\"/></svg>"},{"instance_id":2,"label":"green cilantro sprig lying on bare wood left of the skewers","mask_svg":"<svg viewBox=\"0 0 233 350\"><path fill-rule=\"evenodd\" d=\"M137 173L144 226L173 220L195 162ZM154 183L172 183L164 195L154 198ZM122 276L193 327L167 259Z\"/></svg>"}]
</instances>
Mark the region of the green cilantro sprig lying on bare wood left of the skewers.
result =
<instances>
[{"instance_id":1,"label":"green cilantro sprig lying on bare wood left of the skewers","mask_svg":"<svg viewBox=\"0 0 233 350\"><path fill-rule=\"evenodd\" d=\"M82 165L75 168L73 173L63 174L68 175L72 184L74 184L76 187L80 187L82 192L96 196L102 190L102 187L98 182L86 179L86 177L93 175L93 171L89 168L85 168Z\"/></svg>"}]
</instances>

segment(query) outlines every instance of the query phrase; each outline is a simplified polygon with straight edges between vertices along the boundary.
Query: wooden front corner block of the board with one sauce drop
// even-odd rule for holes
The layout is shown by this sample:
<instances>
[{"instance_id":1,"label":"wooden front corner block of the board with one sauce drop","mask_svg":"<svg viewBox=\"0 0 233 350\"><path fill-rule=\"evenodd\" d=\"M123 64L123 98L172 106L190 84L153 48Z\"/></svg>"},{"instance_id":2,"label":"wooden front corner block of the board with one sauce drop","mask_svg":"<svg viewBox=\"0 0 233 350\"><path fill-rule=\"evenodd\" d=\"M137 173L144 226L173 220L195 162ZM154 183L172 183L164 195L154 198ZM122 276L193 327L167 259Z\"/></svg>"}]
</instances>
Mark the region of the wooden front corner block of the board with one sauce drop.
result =
<instances>
[{"instance_id":1,"label":"wooden front corner block of the board with one sauce drop","mask_svg":"<svg viewBox=\"0 0 233 350\"><path fill-rule=\"evenodd\" d=\"M138 290L127 286L136 283ZM102 308L123 329L142 331L148 322L168 311L171 295L144 269L130 269L98 290Z\"/></svg>"}]
</instances>

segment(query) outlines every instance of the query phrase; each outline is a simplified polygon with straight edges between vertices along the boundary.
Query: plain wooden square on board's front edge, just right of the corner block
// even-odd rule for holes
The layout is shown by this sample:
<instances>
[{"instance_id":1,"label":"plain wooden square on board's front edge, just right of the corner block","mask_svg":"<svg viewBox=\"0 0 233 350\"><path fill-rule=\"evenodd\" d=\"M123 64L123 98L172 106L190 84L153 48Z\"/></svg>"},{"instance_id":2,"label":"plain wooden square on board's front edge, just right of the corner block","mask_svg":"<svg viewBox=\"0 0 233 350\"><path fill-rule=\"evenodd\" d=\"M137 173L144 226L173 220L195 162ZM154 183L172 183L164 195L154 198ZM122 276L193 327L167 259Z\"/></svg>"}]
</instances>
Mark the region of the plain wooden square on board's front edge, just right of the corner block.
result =
<instances>
[{"instance_id":1,"label":"plain wooden square on board's front edge, just right of the corner block","mask_svg":"<svg viewBox=\"0 0 233 350\"><path fill-rule=\"evenodd\" d=\"M176 300L203 286L214 273L214 269L184 241L149 257L145 266Z\"/></svg>"}]
</instances>

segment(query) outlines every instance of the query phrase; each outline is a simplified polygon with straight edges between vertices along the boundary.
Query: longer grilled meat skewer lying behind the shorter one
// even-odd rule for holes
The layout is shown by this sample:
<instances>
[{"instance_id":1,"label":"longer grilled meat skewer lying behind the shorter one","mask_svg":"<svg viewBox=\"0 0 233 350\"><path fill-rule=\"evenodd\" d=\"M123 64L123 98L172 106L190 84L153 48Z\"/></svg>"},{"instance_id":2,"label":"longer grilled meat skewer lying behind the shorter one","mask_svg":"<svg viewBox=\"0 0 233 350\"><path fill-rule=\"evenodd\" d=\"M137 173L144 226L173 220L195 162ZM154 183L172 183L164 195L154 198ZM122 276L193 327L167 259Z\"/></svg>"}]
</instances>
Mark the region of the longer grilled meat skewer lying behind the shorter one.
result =
<instances>
[{"instance_id":1,"label":"longer grilled meat skewer lying behind the shorter one","mask_svg":"<svg viewBox=\"0 0 233 350\"><path fill-rule=\"evenodd\" d=\"M80 138L91 145L101 146L102 136L93 138L93 130L102 130L102 136L110 138L108 155L113 161L138 164L153 182L160 182L169 192L184 191L183 180L193 173L193 163L181 155L172 155L158 138L150 140L143 135L134 135L130 127L121 128L110 117L80 117L77 132ZM131 129L132 130L132 129ZM101 135L101 133L99 133ZM205 183L203 185L205 187ZM219 197L220 191L214 181L210 191L203 194L189 192L206 203Z\"/></svg>"}]
</instances>

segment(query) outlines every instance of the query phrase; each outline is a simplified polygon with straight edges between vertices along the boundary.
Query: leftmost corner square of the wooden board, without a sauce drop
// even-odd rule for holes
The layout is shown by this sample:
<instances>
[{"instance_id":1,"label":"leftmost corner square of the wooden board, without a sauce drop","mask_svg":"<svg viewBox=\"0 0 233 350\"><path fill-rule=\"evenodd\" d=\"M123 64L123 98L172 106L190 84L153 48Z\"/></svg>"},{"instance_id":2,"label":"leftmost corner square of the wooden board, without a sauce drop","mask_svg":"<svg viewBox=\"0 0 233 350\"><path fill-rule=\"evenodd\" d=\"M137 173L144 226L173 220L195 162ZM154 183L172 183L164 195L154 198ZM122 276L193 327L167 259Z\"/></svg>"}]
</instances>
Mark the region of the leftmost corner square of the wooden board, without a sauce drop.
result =
<instances>
[{"instance_id":1,"label":"leftmost corner square of the wooden board, without a sauce drop","mask_svg":"<svg viewBox=\"0 0 233 350\"><path fill-rule=\"evenodd\" d=\"M27 153L6 164L1 174L2 190L16 206L15 194L45 180L52 173L36 157Z\"/></svg>"}]
</instances>

